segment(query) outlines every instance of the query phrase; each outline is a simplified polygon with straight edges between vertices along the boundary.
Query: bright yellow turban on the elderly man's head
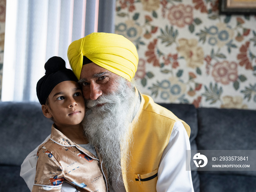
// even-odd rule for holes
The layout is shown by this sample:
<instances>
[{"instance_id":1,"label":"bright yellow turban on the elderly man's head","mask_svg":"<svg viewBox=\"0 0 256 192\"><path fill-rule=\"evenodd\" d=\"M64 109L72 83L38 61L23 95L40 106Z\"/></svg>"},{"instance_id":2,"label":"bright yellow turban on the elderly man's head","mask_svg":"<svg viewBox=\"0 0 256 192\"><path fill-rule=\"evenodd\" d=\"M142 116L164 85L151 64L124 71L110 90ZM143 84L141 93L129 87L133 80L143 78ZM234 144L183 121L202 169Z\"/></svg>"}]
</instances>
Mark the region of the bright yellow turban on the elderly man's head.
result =
<instances>
[{"instance_id":1,"label":"bright yellow turban on the elderly man's head","mask_svg":"<svg viewBox=\"0 0 256 192\"><path fill-rule=\"evenodd\" d=\"M78 79L83 56L129 81L137 71L139 60L135 45L124 36L112 33L91 33L69 45L68 60Z\"/></svg>"}]
</instances>

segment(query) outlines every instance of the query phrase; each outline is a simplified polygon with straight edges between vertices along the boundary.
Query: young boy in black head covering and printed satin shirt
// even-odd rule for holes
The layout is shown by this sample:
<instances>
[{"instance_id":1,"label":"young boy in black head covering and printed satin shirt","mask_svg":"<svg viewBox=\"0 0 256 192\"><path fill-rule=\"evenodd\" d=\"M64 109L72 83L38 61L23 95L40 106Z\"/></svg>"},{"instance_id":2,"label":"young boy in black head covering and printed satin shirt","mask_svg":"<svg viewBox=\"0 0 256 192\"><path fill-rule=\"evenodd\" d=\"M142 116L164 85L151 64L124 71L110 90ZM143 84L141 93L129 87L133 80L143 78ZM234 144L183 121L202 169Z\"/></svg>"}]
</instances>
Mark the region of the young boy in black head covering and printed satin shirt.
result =
<instances>
[{"instance_id":1,"label":"young boy in black head covering and printed satin shirt","mask_svg":"<svg viewBox=\"0 0 256 192\"><path fill-rule=\"evenodd\" d=\"M60 57L45 63L45 76L37 83L44 116L53 120L50 139L38 148L32 192L60 192L63 181L78 191L107 191L102 162L95 151L81 147L85 104L78 80ZM94 153L94 154L93 154Z\"/></svg>"}]
</instances>

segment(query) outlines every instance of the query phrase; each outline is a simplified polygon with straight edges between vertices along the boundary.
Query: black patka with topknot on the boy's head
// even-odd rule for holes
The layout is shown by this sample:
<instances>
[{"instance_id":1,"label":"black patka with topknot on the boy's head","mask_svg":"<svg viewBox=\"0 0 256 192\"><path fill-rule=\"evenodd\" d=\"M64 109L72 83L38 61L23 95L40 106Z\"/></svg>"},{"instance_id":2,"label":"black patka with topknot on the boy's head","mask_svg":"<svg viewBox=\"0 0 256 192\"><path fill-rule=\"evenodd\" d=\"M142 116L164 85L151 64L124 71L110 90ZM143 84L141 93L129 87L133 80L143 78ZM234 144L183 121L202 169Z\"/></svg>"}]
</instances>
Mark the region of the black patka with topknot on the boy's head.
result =
<instances>
[{"instance_id":1,"label":"black patka with topknot on the boy's head","mask_svg":"<svg viewBox=\"0 0 256 192\"><path fill-rule=\"evenodd\" d=\"M37 82L37 98L41 105L45 105L53 88L63 81L78 82L78 79L71 69L66 68L65 61L61 57L51 57L45 63L45 76Z\"/></svg>"}]
</instances>

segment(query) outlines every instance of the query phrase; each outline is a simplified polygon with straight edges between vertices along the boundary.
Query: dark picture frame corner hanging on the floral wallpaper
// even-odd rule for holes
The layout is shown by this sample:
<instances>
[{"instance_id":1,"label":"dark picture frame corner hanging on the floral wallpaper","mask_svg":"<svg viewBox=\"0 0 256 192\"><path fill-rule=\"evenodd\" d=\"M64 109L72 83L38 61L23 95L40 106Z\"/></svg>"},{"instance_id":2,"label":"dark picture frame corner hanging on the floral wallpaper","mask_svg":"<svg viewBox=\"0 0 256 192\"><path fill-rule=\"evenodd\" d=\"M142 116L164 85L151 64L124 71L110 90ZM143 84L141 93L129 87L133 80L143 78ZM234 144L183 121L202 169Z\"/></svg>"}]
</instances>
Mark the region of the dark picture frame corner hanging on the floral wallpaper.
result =
<instances>
[{"instance_id":1,"label":"dark picture frame corner hanging on the floral wallpaper","mask_svg":"<svg viewBox=\"0 0 256 192\"><path fill-rule=\"evenodd\" d=\"M256 15L256 0L219 0L219 13Z\"/></svg>"}]
</instances>

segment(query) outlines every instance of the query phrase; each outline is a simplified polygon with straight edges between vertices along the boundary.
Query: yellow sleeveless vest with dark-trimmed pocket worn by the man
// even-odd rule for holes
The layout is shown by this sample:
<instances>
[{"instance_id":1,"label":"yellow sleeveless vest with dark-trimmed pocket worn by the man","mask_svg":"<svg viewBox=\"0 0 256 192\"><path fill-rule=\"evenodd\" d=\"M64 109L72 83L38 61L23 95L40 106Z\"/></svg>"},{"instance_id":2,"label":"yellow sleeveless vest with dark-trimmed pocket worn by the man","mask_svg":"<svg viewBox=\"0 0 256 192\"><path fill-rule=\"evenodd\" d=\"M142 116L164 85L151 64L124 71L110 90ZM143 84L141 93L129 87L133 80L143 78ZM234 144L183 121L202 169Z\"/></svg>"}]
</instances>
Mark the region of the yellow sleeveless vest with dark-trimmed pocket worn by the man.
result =
<instances>
[{"instance_id":1,"label":"yellow sleeveless vest with dark-trimmed pocket worn by the man","mask_svg":"<svg viewBox=\"0 0 256 192\"><path fill-rule=\"evenodd\" d=\"M147 95L142 95L137 115L138 123L133 122L131 126L133 145L128 172L123 173L124 186L127 192L156 191L159 162L169 143L174 123L181 121L188 136L190 127ZM123 161L121 165L125 167Z\"/></svg>"}]
</instances>

